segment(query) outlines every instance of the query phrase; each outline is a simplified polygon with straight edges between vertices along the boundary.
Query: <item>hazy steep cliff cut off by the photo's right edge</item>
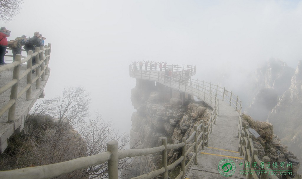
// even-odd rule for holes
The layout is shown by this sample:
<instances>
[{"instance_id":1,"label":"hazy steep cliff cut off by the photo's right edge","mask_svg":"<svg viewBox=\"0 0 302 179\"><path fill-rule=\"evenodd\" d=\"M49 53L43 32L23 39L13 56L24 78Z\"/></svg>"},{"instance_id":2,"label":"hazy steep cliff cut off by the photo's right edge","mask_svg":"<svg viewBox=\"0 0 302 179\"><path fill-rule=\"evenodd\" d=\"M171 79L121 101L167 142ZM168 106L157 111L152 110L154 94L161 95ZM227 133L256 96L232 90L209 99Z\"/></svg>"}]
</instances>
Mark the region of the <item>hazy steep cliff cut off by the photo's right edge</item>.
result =
<instances>
[{"instance_id":1,"label":"hazy steep cliff cut off by the photo's right edge","mask_svg":"<svg viewBox=\"0 0 302 179\"><path fill-rule=\"evenodd\" d=\"M267 120L288 148L302 158L302 61L292 76L291 85L280 97ZM300 170L302 171L302 170Z\"/></svg>"}]
</instances>

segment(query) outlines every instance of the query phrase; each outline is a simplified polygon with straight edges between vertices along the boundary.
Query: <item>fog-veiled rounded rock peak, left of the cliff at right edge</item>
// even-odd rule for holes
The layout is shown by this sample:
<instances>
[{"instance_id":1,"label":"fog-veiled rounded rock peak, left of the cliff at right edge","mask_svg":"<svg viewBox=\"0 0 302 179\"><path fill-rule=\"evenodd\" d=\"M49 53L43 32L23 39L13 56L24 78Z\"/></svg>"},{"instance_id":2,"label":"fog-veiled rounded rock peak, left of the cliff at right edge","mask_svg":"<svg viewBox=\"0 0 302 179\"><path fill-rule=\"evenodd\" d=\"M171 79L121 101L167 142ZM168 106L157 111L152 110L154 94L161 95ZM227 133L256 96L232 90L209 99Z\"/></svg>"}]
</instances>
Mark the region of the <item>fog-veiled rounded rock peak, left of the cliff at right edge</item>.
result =
<instances>
[{"instance_id":1,"label":"fog-veiled rounded rock peak, left of the cliff at right edge","mask_svg":"<svg viewBox=\"0 0 302 179\"><path fill-rule=\"evenodd\" d=\"M293 68L273 58L258 68L249 85L250 105L246 113L254 119L265 121L271 109L277 105L279 96L291 86L293 74Z\"/></svg>"}]
</instances>

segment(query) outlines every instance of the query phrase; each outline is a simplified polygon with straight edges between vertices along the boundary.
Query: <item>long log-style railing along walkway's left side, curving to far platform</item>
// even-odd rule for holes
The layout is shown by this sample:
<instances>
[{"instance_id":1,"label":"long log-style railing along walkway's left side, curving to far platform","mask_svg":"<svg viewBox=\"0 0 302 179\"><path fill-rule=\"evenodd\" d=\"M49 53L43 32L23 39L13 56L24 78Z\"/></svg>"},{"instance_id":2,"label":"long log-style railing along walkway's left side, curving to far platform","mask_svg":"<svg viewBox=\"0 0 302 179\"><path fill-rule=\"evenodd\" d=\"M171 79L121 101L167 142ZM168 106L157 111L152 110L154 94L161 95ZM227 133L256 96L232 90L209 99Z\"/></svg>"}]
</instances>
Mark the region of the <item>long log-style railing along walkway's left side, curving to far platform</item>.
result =
<instances>
[{"instance_id":1,"label":"long log-style railing along walkway's left side, curving to far platform","mask_svg":"<svg viewBox=\"0 0 302 179\"><path fill-rule=\"evenodd\" d=\"M188 69L191 67L191 69ZM162 174L163 179L168 178L168 171L175 168L179 163L181 163L181 170L177 179L184 178L186 171L194 160L194 164L197 164L197 154L198 152L207 145L212 133L212 129L216 123L216 119L219 114L219 99L227 100L230 105L233 105L234 109L241 109L241 102L239 102L238 96L233 98L232 92L229 93L225 88L220 88L218 85L212 85L204 81L193 80L189 76L196 73L196 67L189 65L173 65L173 72L178 72L181 68L191 71L191 73L186 73L186 75L172 75L166 76L164 71L160 70L140 70L135 66L130 65L130 76L134 78L139 78L143 80L152 80L169 86L174 89L178 89L184 93L188 93L198 97L199 99L204 99L205 102L213 106L213 111L211 112L210 118L207 121L207 125L201 121L200 125L194 125L194 131L189 136L189 138L182 138L182 142L178 144L167 144L167 138L162 138L162 145L154 148L145 149L129 149L129 150L118 150L117 141L111 141L107 144L107 151L99 153L97 155L92 155L88 157L77 158L70 161L65 161L57 164L50 164L31 168L21 168L11 171L0 171L1 178L53 178L61 174L67 174L72 171L79 169L85 169L89 166L101 164L108 161L108 177L109 179L118 178L117 161L118 159L126 157L135 157L148 154L156 154L157 152L162 152L162 168L151 171L148 174L143 174L133 179L142 178L153 178ZM182 73L181 73L182 74ZM185 74L185 73L183 73ZM236 101L236 102L235 102ZM241 111L240 111L241 112ZM198 132L200 132L198 134ZM194 142L188 145L194 138ZM198 144L199 143L199 144ZM188 149L187 149L188 147ZM172 164L168 165L167 162L167 151L171 149L182 150L182 156L174 161ZM194 153L188 163L185 163L187 155L194 149Z\"/></svg>"}]
</instances>

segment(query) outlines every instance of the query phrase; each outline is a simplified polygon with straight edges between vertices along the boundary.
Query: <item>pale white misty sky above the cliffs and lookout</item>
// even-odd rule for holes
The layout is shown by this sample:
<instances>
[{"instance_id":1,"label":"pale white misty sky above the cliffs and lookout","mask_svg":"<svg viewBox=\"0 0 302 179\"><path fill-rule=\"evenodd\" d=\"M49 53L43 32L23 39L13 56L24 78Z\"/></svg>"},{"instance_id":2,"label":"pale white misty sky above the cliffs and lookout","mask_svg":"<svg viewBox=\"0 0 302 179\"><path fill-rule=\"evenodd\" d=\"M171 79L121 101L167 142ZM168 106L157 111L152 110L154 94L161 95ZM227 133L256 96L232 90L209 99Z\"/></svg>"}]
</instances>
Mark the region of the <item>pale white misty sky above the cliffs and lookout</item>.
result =
<instances>
[{"instance_id":1,"label":"pale white misty sky above the cliffs and lookout","mask_svg":"<svg viewBox=\"0 0 302 179\"><path fill-rule=\"evenodd\" d=\"M135 111L131 61L193 64L194 79L235 88L271 57L293 68L302 60L297 0L24 0L14 21L1 26L11 30L8 40L39 31L52 44L45 98L84 86L92 116L100 112L123 132Z\"/></svg>"}]
</instances>

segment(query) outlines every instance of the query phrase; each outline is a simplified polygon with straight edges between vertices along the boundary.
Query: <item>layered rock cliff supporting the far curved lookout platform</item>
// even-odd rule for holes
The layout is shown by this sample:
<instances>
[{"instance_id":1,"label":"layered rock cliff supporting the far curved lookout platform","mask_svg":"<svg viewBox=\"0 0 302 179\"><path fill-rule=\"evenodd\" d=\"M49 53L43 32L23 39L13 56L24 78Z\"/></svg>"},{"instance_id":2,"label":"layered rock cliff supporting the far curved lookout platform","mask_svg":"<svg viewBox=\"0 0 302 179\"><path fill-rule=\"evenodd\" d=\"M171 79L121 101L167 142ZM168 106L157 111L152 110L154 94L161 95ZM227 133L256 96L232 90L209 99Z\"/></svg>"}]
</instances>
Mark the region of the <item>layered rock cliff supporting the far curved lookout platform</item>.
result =
<instances>
[{"instance_id":1,"label":"layered rock cliff supporting the far curved lookout platform","mask_svg":"<svg viewBox=\"0 0 302 179\"><path fill-rule=\"evenodd\" d=\"M183 137L189 137L194 125L201 120L206 124L212 108L203 102L191 100L186 95L182 105L180 93L162 84L137 79L136 87L131 91L134 112L131 121L130 148L152 148L162 145L161 138L167 137L168 144L177 144ZM140 141L140 143L138 143ZM181 155L181 150L168 151L168 161L172 163ZM138 174L148 173L160 168L160 154L142 156Z\"/></svg>"}]
</instances>

